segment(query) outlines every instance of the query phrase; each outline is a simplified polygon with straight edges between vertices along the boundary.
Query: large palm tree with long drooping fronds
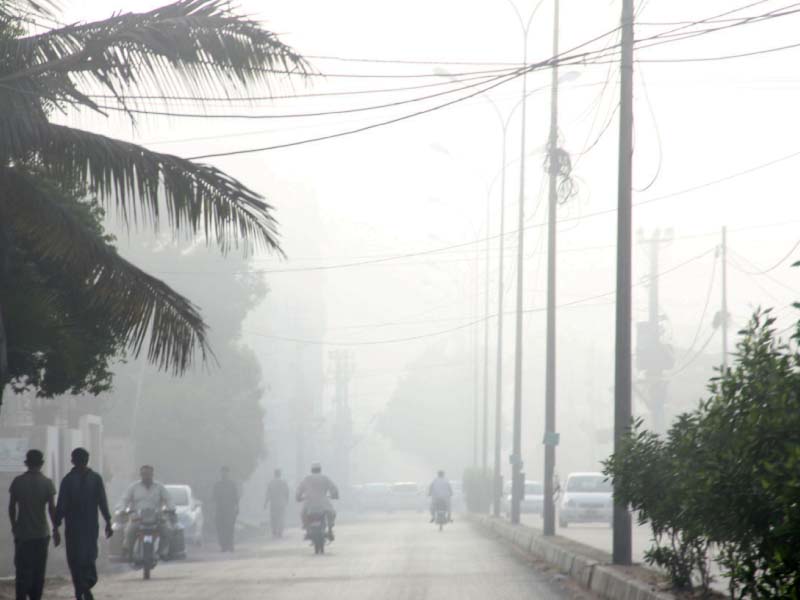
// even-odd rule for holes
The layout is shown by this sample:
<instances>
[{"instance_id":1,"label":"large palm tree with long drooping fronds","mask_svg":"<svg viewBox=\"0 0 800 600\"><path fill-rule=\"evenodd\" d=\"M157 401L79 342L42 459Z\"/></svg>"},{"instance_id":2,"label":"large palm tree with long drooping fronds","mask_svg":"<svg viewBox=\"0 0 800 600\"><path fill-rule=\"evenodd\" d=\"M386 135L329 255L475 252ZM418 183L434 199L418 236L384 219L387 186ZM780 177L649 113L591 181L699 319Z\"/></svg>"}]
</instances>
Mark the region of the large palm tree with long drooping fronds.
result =
<instances>
[{"instance_id":1,"label":"large palm tree with long drooping fronds","mask_svg":"<svg viewBox=\"0 0 800 600\"><path fill-rule=\"evenodd\" d=\"M145 13L26 34L53 20L51 0L0 0L0 402L8 383L3 293L12 240L74 274L110 314L128 350L176 374L209 355L197 308L121 258L69 209L73 190L113 206L125 223L203 235L221 251L280 252L272 207L218 169L53 122L54 113L127 111L156 90L242 95L304 74L306 63L221 0L179 0ZM102 91L103 107L96 100ZM165 100L166 101L166 100ZM74 200L72 200L74 201Z\"/></svg>"}]
</instances>

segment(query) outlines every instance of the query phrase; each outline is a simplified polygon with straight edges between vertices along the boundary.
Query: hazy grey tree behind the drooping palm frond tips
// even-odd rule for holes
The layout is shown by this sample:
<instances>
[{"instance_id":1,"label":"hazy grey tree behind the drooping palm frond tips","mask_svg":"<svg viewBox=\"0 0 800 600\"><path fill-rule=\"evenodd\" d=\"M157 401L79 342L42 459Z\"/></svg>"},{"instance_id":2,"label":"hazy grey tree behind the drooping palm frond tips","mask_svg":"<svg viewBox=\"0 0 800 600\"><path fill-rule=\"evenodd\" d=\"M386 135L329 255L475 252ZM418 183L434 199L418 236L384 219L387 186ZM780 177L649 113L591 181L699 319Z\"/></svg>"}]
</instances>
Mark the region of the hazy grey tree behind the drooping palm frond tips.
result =
<instances>
[{"instance_id":1,"label":"hazy grey tree behind the drooping palm frond tips","mask_svg":"<svg viewBox=\"0 0 800 600\"><path fill-rule=\"evenodd\" d=\"M136 463L155 465L159 479L188 483L208 499L222 465L246 479L263 454L261 370L241 332L266 286L259 274L247 273L246 260L223 262L202 247L134 234L121 251L161 265L168 283L202 303L219 368L189 379L158 372L141 358L118 365L105 431L130 436Z\"/></svg>"}]
</instances>

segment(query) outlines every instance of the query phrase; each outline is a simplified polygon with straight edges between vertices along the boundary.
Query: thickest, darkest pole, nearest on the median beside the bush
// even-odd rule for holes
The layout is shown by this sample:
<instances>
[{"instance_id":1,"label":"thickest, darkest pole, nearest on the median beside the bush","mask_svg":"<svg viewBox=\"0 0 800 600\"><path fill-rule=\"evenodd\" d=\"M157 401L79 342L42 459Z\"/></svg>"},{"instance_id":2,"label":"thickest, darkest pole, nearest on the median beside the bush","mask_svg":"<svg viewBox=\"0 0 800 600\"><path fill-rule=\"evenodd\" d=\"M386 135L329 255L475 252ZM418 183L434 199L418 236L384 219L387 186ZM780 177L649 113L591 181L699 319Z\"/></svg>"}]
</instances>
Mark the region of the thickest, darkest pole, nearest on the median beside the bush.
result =
<instances>
[{"instance_id":1,"label":"thickest, darkest pole, nearest on the median beside the bush","mask_svg":"<svg viewBox=\"0 0 800 600\"><path fill-rule=\"evenodd\" d=\"M617 307L614 369L614 451L631 426L631 317L633 217L633 0L622 0L622 61L619 118L619 197L617 207ZM614 492L613 561L632 560L631 515Z\"/></svg>"}]
</instances>

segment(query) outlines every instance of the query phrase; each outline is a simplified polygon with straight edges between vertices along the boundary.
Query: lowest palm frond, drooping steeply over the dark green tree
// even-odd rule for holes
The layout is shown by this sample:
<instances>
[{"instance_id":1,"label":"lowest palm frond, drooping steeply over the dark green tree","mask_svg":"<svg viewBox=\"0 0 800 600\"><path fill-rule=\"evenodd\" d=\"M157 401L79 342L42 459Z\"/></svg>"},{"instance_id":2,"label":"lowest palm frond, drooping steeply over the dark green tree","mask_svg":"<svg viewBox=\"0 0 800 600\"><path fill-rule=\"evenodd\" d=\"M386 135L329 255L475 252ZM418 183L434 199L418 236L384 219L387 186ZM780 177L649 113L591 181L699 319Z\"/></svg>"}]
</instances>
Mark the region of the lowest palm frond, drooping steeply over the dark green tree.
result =
<instances>
[{"instance_id":1,"label":"lowest palm frond, drooping steeply over the dark green tree","mask_svg":"<svg viewBox=\"0 0 800 600\"><path fill-rule=\"evenodd\" d=\"M62 265L91 287L133 354L147 343L148 359L175 373L192 364L196 350L205 360L210 350L197 308L119 256L70 210L74 200L45 181L20 169L0 169L0 203L15 234L42 260Z\"/></svg>"}]
</instances>

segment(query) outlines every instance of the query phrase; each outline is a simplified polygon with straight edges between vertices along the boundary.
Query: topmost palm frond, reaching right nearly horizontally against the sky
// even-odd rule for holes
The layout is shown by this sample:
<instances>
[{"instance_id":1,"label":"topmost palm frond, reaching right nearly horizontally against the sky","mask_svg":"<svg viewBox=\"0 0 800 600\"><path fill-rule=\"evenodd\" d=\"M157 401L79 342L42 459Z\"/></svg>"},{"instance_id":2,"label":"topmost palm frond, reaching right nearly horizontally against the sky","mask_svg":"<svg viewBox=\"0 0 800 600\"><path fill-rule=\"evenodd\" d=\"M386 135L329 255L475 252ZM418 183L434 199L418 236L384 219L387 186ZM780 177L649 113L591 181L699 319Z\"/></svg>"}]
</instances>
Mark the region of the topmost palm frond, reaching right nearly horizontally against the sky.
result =
<instances>
[{"instance_id":1,"label":"topmost palm frond, reaching right nearly horizontally against the sky","mask_svg":"<svg viewBox=\"0 0 800 600\"><path fill-rule=\"evenodd\" d=\"M73 78L115 94L147 87L165 95L236 95L239 85L269 85L276 75L308 70L274 33L238 16L223 0L179 0L12 39L0 42L0 55L14 57L0 84L38 86L67 102L78 101Z\"/></svg>"}]
</instances>

